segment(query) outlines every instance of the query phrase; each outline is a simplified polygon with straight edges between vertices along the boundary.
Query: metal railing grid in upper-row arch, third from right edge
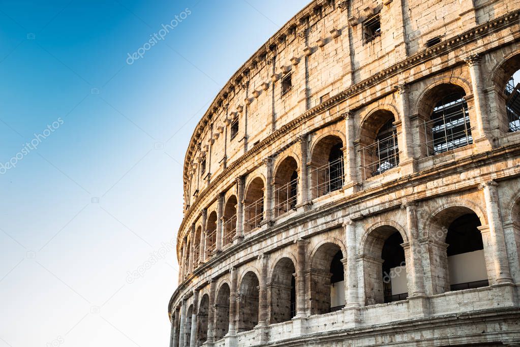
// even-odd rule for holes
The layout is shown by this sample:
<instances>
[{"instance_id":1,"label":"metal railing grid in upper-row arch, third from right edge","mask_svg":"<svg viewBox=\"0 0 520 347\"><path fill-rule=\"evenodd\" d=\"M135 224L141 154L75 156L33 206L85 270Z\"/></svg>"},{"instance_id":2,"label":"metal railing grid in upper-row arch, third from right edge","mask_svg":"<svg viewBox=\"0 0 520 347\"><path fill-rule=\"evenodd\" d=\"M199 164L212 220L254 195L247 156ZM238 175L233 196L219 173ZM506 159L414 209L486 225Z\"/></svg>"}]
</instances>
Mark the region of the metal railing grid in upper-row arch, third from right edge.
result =
<instances>
[{"instance_id":1,"label":"metal railing grid in upper-row arch, third from right edge","mask_svg":"<svg viewBox=\"0 0 520 347\"><path fill-rule=\"evenodd\" d=\"M397 146L397 134L376 140L368 146L361 148L361 167L365 178L382 174L399 165L399 149Z\"/></svg>"}]
</instances>

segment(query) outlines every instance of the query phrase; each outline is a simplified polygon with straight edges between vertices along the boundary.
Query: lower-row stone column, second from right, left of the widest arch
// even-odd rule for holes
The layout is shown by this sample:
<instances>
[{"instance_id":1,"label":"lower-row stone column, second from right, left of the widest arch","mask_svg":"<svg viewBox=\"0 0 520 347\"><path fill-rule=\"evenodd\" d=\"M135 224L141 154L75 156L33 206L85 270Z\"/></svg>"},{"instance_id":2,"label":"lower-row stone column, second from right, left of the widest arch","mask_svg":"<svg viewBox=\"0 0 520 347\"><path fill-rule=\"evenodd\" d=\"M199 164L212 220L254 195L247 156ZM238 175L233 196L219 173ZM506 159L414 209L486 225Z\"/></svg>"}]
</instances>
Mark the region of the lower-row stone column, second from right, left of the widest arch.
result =
<instances>
[{"instance_id":1,"label":"lower-row stone column, second from right, left of the widest arch","mask_svg":"<svg viewBox=\"0 0 520 347\"><path fill-rule=\"evenodd\" d=\"M408 274L408 296L424 295L424 274L421 262L421 247L419 246L419 228L417 224L417 206L413 202L401 206L406 208L406 222L410 235L406 272Z\"/></svg>"}]
</instances>

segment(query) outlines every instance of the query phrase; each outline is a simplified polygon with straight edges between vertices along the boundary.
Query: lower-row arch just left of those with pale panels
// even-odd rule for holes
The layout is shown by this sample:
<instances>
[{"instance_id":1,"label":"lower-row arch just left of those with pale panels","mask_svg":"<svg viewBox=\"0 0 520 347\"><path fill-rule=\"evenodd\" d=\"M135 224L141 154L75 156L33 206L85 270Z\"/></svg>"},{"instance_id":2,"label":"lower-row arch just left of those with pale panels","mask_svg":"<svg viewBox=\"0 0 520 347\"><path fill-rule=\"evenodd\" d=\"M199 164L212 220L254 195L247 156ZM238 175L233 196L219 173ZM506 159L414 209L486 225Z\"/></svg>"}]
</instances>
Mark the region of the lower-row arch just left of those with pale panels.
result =
<instances>
[{"instance_id":1,"label":"lower-row arch just left of those with pale panels","mask_svg":"<svg viewBox=\"0 0 520 347\"><path fill-rule=\"evenodd\" d=\"M289 258L280 259L271 277L270 323L289 321L296 315L296 281L294 263Z\"/></svg>"}]
</instances>

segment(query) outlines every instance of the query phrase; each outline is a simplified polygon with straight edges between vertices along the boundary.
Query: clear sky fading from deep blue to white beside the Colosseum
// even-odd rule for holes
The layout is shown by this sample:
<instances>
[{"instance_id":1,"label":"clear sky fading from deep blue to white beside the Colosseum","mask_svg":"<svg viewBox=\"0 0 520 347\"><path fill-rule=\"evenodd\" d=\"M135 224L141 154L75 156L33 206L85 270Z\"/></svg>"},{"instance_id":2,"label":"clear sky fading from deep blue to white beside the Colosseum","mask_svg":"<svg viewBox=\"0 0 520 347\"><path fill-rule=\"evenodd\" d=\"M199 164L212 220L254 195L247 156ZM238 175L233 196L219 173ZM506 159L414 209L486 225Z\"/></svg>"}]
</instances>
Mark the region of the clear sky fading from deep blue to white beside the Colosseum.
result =
<instances>
[{"instance_id":1,"label":"clear sky fading from deep blue to white beside the Colosseum","mask_svg":"<svg viewBox=\"0 0 520 347\"><path fill-rule=\"evenodd\" d=\"M0 1L0 347L167 345L193 128L307 2Z\"/></svg>"}]
</instances>

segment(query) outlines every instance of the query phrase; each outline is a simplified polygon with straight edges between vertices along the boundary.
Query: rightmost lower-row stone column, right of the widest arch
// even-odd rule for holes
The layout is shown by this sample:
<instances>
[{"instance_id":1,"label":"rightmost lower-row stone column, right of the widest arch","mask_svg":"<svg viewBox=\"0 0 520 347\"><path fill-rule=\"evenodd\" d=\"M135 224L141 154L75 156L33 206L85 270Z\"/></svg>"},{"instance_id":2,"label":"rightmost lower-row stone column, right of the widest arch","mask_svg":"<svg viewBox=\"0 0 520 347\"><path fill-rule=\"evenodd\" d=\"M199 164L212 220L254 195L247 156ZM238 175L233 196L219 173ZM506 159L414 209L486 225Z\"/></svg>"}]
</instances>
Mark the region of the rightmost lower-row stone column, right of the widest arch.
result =
<instances>
[{"instance_id":1,"label":"rightmost lower-row stone column, right of the widest arch","mask_svg":"<svg viewBox=\"0 0 520 347\"><path fill-rule=\"evenodd\" d=\"M493 255L497 283L511 283L508 253L505 248L505 237L502 225L502 215L499 206L498 183L487 181L479 185L484 190L486 212L489 224L489 242Z\"/></svg>"}]
</instances>

